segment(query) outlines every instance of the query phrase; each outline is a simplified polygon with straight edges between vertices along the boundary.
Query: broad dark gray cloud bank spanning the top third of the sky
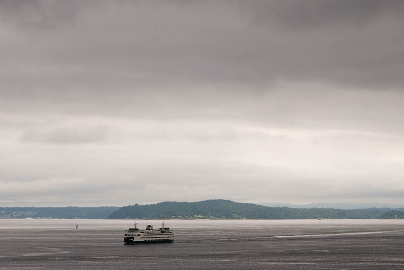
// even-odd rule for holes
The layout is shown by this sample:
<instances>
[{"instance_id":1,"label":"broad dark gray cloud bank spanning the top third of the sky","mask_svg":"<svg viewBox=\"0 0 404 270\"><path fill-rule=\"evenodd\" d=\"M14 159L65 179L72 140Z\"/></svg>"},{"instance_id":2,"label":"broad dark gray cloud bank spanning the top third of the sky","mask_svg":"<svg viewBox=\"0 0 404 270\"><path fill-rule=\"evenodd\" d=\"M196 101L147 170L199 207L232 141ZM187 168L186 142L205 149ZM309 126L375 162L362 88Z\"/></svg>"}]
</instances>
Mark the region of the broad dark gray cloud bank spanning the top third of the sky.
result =
<instances>
[{"instance_id":1,"label":"broad dark gray cloud bank spanning the top third of the sky","mask_svg":"<svg viewBox=\"0 0 404 270\"><path fill-rule=\"evenodd\" d=\"M3 40L2 81L20 91L207 82L262 88L276 80L403 84L402 1L28 3L13 3L11 12L5 6L3 22L20 22L17 9L27 20L60 26L5 24L17 32Z\"/></svg>"}]
</instances>

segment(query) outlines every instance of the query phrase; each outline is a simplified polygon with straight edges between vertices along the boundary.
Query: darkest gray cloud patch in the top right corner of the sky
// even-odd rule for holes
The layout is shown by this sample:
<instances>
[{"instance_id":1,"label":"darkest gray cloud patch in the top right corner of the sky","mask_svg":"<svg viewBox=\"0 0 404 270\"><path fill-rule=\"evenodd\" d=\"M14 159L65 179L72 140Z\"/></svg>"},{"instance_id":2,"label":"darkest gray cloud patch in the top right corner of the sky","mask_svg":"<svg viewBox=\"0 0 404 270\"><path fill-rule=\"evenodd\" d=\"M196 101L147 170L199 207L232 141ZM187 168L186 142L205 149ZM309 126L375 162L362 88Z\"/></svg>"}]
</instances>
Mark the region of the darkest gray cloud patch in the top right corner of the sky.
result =
<instances>
[{"instance_id":1,"label":"darkest gray cloud patch in the top right corner of the sky","mask_svg":"<svg viewBox=\"0 0 404 270\"><path fill-rule=\"evenodd\" d=\"M243 2L240 1L242 4ZM290 31L330 26L364 26L383 16L400 17L403 11L400 0L338 1L338 0L257 0L245 3L243 9L251 11L257 23L276 24ZM242 11L241 10L241 11Z\"/></svg>"}]
</instances>

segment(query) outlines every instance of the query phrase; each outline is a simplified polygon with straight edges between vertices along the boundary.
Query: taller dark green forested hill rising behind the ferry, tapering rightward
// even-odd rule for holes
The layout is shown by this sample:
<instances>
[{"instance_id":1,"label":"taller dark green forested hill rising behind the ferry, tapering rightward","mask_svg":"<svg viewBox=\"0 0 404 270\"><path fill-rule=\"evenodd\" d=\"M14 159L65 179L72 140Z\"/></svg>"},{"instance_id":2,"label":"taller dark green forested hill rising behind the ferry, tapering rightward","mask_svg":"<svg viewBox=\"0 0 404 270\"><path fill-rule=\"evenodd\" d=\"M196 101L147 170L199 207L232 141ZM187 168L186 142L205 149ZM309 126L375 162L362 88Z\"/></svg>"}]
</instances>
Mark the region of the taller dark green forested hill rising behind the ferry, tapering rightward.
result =
<instances>
[{"instance_id":1,"label":"taller dark green forested hill rising behind the ferry, tapering rightward","mask_svg":"<svg viewBox=\"0 0 404 270\"><path fill-rule=\"evenodd\" d=\"M208 200L194 203L163 202L134 204L119 208L110 219L379 219L391 208L334 209L268 207L253 203L235 203L227 200Z\"/></svg>"}]
</instances>

